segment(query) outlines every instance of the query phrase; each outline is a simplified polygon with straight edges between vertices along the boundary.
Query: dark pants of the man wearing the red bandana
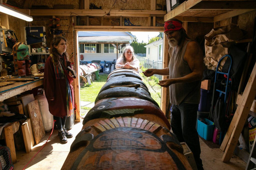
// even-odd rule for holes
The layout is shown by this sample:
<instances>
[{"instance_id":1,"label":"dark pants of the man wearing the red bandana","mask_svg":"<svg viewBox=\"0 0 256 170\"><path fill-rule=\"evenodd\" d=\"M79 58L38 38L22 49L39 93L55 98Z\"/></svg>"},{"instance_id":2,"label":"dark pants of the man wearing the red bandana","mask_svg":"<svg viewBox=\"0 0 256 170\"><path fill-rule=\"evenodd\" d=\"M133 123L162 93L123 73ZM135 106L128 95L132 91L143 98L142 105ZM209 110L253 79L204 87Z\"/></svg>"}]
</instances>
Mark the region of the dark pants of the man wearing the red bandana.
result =
<instances>
[{"instance_id":1,"label":"dark pants of the man wearing the red bandana","mask_svg":"<svg viewBox=\"0 0 256 170\"><path fill-rule=\"evenodd\" d=\"M186 142L193 152L198 169L202 168L200 143L196 130L198 104L172 105L171 127L179 142Z\"/></svg>"}]
</instances>

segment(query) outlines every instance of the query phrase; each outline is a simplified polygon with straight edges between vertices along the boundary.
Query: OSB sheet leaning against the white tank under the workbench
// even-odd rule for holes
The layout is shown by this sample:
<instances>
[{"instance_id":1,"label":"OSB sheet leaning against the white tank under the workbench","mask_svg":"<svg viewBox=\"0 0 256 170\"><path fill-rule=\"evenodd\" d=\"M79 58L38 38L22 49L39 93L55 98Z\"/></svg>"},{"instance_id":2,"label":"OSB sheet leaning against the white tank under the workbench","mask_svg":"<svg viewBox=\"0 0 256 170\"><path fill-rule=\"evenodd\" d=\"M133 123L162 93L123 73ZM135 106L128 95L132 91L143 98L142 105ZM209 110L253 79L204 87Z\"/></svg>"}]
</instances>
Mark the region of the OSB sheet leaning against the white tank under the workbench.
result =
<instances>
[{"instance_id":1,"label":"OSB sheet leaning against the white tank under the workbench","mask_svg":"<svg viewBox=\"0 0 256 170\"><path fill-rule=\"evenodd\" d=\"M44 124L42 121L41 112L38 105L38 100L28 103L28 113L30 116L32 129L35 136L35 142L38 144L40 140L45 136Z\"/></svg>"}]
</instances>

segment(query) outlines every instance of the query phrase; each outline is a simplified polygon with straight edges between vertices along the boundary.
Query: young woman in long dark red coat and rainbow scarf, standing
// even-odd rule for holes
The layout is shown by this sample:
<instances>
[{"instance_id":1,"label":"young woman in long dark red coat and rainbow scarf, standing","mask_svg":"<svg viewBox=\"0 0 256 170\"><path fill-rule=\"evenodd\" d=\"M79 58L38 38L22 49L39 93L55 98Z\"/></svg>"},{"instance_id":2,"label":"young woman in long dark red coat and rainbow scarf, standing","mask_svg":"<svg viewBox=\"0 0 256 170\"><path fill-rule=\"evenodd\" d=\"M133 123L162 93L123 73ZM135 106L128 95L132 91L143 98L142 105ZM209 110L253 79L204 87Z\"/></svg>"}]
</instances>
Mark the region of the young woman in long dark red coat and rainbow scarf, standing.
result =
<instances>
[{"instance_id":1,"label":"young woman in long dark red coat and rainbow scarf, standing","mask_svg":"<svg viewBox=\"0 0 256 170\"><path fill-rule=\"evenodd\" d=\"M51 42L51 54L45 62L44 90L49 111L56 120L60 142L67 143L73 135L65 128L67 116L74 109L73 78L67 71L70 62L67 59L67 40L55 37Z\"/></svg>"}]
</instances>

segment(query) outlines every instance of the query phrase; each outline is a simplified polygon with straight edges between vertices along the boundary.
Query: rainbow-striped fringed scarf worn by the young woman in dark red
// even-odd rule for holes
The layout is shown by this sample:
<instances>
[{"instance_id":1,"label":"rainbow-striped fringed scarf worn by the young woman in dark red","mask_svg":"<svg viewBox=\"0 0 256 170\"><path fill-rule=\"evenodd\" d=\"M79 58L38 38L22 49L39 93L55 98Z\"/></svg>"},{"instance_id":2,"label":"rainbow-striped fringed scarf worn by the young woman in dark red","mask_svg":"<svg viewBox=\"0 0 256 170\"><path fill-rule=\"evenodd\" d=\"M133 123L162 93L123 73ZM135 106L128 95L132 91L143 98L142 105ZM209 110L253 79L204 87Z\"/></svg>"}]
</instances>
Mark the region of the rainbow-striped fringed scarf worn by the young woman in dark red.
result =
<instances>
[{"instance_id":1,"label":"rainbow-striped fringed scarf worn by the young woman in dark red","mask_svg":"<svg viewBox=\"0 0 256 170\"><path fill-rule=\"evenodd\" d=\"M54 67L54 72L55 72L55 77L56 79L64 79L64 77L66 76L66 84L67 84L67 98L66 98L66 102L67 102L67 116L70 116L71 114L73 114L73 109L74 109L74 105L72 102L72 93L71 93L71 83L73 81L73 78L69 76L68 71L67 71L67 61L66 61L66 57L61 56L61 58L63 58L63 63L58 61L59 63L56 65L53 59L53 55L50 55L52 58L52 63L53 63L53 67Z\"/></svg>"}]
</instances>

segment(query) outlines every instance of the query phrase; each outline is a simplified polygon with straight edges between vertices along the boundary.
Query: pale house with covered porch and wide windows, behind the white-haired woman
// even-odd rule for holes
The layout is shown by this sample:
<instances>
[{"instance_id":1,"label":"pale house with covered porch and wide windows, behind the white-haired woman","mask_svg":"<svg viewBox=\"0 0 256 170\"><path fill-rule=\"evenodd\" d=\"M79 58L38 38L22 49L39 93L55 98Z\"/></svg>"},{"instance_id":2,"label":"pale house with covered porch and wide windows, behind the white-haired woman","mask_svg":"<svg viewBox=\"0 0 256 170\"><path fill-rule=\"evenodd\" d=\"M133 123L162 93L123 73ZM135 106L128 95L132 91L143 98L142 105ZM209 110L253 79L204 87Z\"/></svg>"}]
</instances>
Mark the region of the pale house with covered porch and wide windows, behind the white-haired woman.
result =
<instances>
[{"instance_id":1,"label":"pale house with covered porch and wide windows, behind the white-haired woman","mask_svg":"<svg viewBox=\"0 0 256 170\"><path fill-rule=\"evenodd\" d=\"M100 60L104 63L112 62L123 53L125 46L133 42L134 35L128 32L115 31L79 31L79 56L90 63Z\"/></svg>"}]
</instances>

